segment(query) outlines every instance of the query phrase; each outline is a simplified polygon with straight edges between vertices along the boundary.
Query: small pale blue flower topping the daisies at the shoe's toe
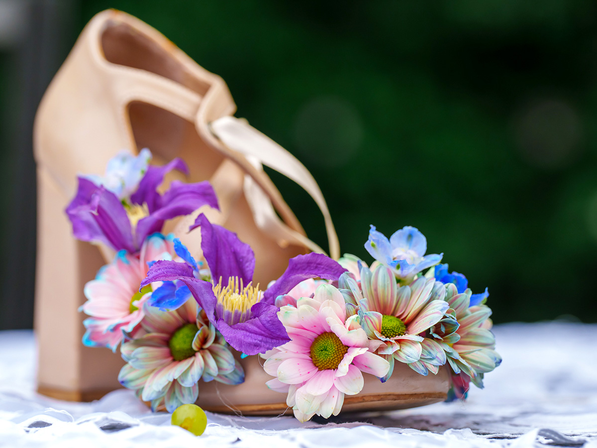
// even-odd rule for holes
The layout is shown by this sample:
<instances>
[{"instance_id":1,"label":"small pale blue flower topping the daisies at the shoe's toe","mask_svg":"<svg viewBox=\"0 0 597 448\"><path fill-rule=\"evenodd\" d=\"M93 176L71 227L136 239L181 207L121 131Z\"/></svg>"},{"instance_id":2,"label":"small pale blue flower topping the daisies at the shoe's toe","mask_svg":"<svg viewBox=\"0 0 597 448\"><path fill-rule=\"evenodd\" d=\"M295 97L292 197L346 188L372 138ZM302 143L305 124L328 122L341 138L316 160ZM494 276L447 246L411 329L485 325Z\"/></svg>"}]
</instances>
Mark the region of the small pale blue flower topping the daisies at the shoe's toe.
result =
<instances>
[{"instance_id":1,"label":"small pale blue flower topping the daisies at the shoe's toe","mask_svg":"<svg viewBox=\"0 0 597 448\"><path fill-rule=\"evenodd\" d=\"M418 272L438 264L444 254L425 255L427 239L416 228L405 226L388 240L371 226L365 248L378 262L392 269L401 284L410 283Z\"/></svg>"}]
</instances>

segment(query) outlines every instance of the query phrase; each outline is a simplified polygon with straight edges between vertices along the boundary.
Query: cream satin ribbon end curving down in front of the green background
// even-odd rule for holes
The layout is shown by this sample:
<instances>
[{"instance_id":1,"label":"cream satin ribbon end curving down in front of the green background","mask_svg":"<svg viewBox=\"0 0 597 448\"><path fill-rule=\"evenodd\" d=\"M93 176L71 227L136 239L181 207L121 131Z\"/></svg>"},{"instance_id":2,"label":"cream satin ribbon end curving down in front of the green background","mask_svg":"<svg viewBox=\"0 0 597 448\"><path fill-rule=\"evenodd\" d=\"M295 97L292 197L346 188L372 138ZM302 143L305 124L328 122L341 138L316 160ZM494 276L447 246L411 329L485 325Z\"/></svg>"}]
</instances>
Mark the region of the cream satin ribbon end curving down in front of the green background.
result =
<instances>
[{"instance_id":1,"label":"cream satin ribbon end curving down in front of the green background","mask_svg":"<svg viewBox=\"0 0 597 448\"><path fill-rule=\"evenodd\" d=\"M233 116L223 116L211 122L211 130L224 145L240 152L247 158L255 158L267 167L284 174L288 179L298 183L313 198L324 216L330 244L330 256L333 259L338 259L340 244L330 210L328 210L321 189L309 170L290 152L243 120Z\"/></svg>"}]
</instances>

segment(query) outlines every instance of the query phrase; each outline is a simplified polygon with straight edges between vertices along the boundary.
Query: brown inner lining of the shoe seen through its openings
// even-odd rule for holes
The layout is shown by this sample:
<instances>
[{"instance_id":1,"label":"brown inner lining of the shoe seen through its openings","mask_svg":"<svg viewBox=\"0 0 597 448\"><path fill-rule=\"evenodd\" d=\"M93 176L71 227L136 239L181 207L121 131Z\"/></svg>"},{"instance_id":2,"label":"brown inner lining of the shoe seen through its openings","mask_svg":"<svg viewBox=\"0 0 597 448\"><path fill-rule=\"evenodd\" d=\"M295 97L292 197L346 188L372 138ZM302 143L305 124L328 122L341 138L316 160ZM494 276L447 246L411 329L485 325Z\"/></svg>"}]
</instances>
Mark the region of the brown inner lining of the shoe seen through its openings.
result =
<instances>
[{"instance_id":1,"label":"brown inner lining of the shoe seen through its openings","mask_svg":"<svg viewBox=\"0 0 597 448\"><path fill-rule=\"evenodd\" d=\"M101 44L104 56L110 63L156 73L201 95L210 87L196 79L167 50L125 23L109 23L101 36ZM149 148L158 165L175 157L180 157L189 165L189 177L173 172L166 177L164 185L174 179L186 182L210 180L224 160L220 152L201 139L194 123L174 113L136 101L128 105L128 116L137 151ZM282 274L288 259L305 253L304 247L293 244L280 247L276 241L263 234L254 223L244 195L239 196L234 210L225 226L253 246L259 260L254 278L256 282L267 284L267 281Z\"/></svg>"}]
</instances>

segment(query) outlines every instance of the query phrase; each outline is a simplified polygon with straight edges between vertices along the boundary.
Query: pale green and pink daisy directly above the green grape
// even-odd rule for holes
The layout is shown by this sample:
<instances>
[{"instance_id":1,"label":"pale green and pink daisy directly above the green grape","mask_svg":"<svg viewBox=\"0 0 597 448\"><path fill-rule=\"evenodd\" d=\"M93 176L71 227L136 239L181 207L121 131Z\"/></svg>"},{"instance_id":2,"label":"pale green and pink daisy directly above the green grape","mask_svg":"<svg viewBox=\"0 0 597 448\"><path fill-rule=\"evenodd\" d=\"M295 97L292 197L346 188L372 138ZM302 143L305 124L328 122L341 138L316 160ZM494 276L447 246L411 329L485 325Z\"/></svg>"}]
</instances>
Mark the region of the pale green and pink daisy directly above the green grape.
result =
<instances>
[{"instance_id":1,"label":"pale green and pink daisy directly above the green grape","mask_svg":"<svg viewBox=\"0 0 597 448\"><path fill-rule=\"evenodd\" d=\"M176 311L159 311L144 303L143 336L121 346L127 361L118 381L133 389L152 410L165 404L168 412L195 403L199 379L239 384L245 374L229 345L193 300Z\"/></svg>"}]
</instances>

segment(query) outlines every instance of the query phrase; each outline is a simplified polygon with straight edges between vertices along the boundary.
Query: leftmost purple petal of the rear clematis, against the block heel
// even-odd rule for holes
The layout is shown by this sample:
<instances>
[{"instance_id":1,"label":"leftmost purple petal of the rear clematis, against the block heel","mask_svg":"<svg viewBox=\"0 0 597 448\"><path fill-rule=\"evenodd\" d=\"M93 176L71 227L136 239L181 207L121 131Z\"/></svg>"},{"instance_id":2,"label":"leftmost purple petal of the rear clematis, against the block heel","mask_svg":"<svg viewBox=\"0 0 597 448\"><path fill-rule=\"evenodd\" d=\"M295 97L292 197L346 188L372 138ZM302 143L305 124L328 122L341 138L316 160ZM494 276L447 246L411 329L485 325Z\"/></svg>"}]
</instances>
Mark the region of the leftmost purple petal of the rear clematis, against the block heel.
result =
<instances>
[{"instance_id":1,"label":"leftmost purple petal of the rear clematis, against the block heel","mask_svg":"<svg viewBox=\"0 0 597 448\"><path fill-rule=\"evenodd\" d=\"M127 211L115 194L79 177L75 198L66 208L75 238L136 252Z\"/></svg>"}]
</instances>

